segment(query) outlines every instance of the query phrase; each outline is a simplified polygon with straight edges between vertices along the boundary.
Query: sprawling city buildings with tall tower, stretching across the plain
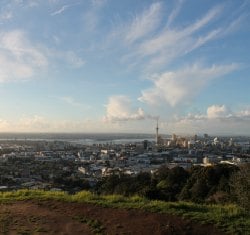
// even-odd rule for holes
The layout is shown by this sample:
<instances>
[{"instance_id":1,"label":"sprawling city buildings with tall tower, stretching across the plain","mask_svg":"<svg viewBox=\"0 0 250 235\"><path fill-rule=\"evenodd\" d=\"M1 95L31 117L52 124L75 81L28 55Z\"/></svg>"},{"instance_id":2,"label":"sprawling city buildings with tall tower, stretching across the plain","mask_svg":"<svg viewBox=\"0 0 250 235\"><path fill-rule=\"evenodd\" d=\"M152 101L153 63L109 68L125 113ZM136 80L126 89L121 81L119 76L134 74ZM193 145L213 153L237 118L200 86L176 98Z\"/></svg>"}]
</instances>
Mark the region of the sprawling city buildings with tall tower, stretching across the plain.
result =
<instances>
[{"instance_id":1,"label":"sprawling city buildings with tall tower, stretching across the plain","mask_svg":"<svg viewBox=\"0 0 250 235\"><path fill-rule=\"evenodd\" d=\"M79 144L58 140L1 140L0 190L46 189L77 192L112 174L136 176L168 168L250 162L248 137L181 137L123 144Z\"/></svg>"}]
</instances>

